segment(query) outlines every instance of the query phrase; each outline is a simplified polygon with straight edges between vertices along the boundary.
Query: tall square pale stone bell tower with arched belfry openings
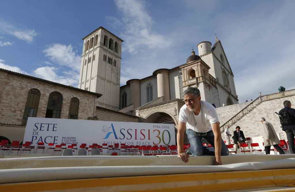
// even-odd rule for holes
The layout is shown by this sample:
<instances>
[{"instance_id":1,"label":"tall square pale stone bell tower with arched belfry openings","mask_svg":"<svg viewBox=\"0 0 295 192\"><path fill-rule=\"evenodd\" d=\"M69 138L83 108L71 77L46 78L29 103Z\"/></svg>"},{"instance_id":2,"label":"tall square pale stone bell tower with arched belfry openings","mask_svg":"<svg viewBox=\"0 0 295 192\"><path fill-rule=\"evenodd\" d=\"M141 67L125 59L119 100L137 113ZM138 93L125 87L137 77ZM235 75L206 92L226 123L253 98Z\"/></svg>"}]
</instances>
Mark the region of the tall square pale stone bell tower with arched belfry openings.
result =
<instances>
[{"instance_id":1,"label":"tall square pale stone bell tower with arched belfry openings","mask_svg":"<svg viewBox=\"0 0 295 192\"><path fill-rule=\"evenodd\" d=\"M97 106L119 110L122 42L103 27L82 39L78 88L101 93Z\"/></svg>"}]
</instances>

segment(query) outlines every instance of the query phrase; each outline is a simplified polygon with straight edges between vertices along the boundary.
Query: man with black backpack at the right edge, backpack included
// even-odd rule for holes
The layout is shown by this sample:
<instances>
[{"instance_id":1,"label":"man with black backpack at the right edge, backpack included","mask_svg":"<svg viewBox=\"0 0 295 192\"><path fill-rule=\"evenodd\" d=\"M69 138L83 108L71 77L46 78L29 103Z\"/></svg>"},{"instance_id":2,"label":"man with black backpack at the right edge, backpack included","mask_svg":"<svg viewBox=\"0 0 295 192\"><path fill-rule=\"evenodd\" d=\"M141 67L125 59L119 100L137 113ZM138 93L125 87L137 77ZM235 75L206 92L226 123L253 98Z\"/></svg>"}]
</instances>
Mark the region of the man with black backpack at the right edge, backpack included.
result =
<instances>
[{"instance_id":1,"label":"man with black backpack at the right edge, backpack included","mask_svg":"<svg viewBox=\"0 0 295 192\"><path fill-rule=\"evenodd\" d=\"M284 101L283 104L285 107L279 112L280 122L287 135L289 150L291 154L295 154L295 109L291 108L290 101Z\"/></svg>"}]
</instances>

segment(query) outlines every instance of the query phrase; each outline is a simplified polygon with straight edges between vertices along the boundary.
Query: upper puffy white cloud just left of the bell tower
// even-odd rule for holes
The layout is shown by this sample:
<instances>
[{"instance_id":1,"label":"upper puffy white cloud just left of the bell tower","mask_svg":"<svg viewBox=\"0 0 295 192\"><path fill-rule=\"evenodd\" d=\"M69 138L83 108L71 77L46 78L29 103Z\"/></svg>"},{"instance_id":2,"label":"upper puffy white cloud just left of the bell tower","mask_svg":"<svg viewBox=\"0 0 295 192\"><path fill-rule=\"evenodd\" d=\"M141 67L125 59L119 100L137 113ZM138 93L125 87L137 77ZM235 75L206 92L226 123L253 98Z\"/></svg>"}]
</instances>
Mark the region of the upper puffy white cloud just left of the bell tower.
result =
<instances>
[{"instance_id":1,"label":"upper puffy white cloud just left of the bell tower","mask_svg":"<svg viewBox=\"0 0 295 192\"><path fill-rule=\"evenodd\" d=\"M81 58L76 55L72 45L62 45L59 43L49 45L43 50L46 57L57 63L72 68L75 71L80 71Z\"/></svg>"}]
</instances>

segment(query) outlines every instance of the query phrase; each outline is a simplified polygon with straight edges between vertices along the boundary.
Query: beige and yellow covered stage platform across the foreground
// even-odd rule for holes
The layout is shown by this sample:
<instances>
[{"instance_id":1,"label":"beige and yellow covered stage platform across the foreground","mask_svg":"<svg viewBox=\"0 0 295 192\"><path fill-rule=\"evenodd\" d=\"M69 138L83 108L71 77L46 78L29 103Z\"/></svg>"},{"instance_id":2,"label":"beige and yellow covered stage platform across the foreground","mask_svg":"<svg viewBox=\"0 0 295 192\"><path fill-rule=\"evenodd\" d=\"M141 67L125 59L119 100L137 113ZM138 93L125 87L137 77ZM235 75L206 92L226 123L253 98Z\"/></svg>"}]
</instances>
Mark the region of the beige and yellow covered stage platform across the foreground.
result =
<instances>
[{"instance_id":1,"label":"beige and yellow covered stage platform across the foreground","mask_svg":"<svg viewBox=\"0 0 295 192\"><path fill-rule=\"evenodd\" d=\"M0 155L1 156L1 155ZM0 157L1 191L295 191L295 155Z\"/></svg>"}]
</instances>

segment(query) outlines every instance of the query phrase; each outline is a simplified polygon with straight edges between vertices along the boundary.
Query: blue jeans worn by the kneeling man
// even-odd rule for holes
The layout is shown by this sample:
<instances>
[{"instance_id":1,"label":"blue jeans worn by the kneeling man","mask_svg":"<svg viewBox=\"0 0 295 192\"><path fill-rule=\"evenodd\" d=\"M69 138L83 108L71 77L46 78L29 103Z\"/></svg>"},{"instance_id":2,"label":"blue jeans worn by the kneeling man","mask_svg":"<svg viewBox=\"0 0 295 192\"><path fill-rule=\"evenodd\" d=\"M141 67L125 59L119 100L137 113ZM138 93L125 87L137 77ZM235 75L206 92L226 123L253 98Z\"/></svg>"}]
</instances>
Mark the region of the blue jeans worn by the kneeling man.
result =
<instances>
[{"instance_id":1,"label":"blue jeans worn by the kneeling man","mask_svg":"<svg viewBox=\"0 0 295 192\"><path fill-rule=\"evenodd\" d=\"M191 154L194 156L201 156L201 155L215 155L214 150L214 134L213 131L210 130L207 132L206 136L197 136L195 135L195 131L192 129L186 129L186 134L189 138L189 142L191 144ZM202 138L206 139L213 147L205 147L202 144ZM229 151L221 139L221 155L227 156Z\"/></svg>"}]
</instances>

